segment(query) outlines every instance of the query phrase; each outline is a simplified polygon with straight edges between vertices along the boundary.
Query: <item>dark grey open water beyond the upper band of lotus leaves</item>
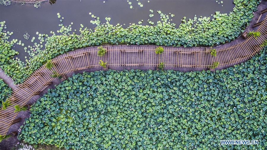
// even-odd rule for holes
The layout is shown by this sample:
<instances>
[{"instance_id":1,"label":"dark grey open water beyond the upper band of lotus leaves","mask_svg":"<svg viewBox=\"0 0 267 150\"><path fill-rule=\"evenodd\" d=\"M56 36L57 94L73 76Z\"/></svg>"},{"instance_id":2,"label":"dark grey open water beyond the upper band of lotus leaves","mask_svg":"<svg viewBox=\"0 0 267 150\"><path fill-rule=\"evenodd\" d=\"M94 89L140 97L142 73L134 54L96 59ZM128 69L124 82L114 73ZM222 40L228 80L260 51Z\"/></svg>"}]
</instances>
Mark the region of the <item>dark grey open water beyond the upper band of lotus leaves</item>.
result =
<instances>
[{"instance_id":1,"label":"dark grey open water beyond the upper band of lotus leaves","mask_svg":"<svg viewBox=\"0 0 267 150\"><path fill-rule=\"evenodd\" d=\"M181 19L185 16L186 19L197 17L209 17L214 14L215 11L221 13L229 13L233 10L234 4L231 0L223 0L223 4L218 4L221 0L140 0L143 7L140 7L137 3L139 1L129 0L132 2L133 9L130 9L130 5L127 0L57 0L55 4L50 4L48 1L43 2L41 7L36 9L33 4L16 4L12 3L9 6L0 5L0 21L6 21L7 31L13 31L12 38L21 40L24 43L24 47L33 45L31 38L36 36L38 31L41 34L50 35L50 31L57 31L60 29L58 24L61 24L60 19L57 16L59 12L63 19L63 25L69 25L73 22L72 31L77 29L79 31L80 24L93 29L94 26L90 23L91 18L89 12L99 17L101 23L105 23L105 17L110 17L110 24L124 24L125 28L129 23L138 24L143 20L143 25L147 25L147 20L150 19L155 24L160 20L160 14L169 15L174 14L174 17L169 15L171 22L176 23L177 26L181 23ZM223 6L222 6L223 5ZM153 10L151 13L149 10ZM149 14L154 14L152 18ZM23 38L23 34L28 32L30 35L29 40ZM10 39L10 40L11 40ZM36 40L38 40L36 38ZM36 41L35 40L35 41ZM28 56L28 53L24 51L24 47L15 45L14 49L20 54L18 58L24 60L24 56Z\"/></svg>"}]
</instances>

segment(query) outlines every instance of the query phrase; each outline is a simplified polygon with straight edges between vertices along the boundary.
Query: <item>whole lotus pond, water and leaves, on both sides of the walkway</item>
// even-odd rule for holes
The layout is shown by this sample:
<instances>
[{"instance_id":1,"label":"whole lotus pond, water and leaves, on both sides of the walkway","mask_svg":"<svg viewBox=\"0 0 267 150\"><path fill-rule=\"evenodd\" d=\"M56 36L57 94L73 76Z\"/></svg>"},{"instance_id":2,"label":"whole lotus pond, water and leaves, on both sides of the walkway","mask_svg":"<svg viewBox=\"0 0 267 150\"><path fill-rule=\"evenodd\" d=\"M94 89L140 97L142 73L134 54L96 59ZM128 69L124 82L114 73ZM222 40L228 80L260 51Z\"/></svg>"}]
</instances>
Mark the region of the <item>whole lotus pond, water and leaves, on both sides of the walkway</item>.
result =
<instances>
[{"instance_id":1,"label":"whole lotus pond, water and leaves, on both sides of the walkway","mask_svg":"<svg viewBox=\"0 0 267 150\"><path fill-rule=\"evenodd\" d=\"M0 6L0 66L15 84L55 56L93 45L229 42L260 1L53 2ZM73 75L32 105L18 138L74 150L266 149L266 53L216 72ZM5 100L11 89L1 80L0 88ZM231 139L259 144L220 145Z\"/></svg>"}]
</instances>

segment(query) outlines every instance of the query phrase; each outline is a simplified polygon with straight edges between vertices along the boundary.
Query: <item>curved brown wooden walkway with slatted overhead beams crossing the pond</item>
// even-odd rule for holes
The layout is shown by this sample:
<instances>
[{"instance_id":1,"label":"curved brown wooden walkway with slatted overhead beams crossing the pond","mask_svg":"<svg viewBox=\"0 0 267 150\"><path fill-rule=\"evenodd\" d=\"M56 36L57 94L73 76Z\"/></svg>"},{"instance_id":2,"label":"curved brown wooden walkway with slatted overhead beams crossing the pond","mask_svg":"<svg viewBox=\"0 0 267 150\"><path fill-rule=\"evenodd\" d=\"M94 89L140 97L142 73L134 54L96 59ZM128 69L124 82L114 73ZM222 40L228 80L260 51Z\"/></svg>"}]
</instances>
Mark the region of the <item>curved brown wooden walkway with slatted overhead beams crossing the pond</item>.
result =
<instances>
[{"instance_id":1,"label":"curved brown wooden walkway with slatted overhead beams crossing the pond","mask_svg":"<svg viewBox=\"0 0 267 150\"><path fill-rule=\"evenodd\" d=\"M165 69L196 68L209 69L214 62L219 62L218 69L239 64L257 54L262 48L260 44L267 39L267 17L257 28L260 37L248 37L242 42L234 44L234 41L225 45L214 47L217 56L211 56L209 49L194 47L168 47L163 46L161 55L155 54L156 46L117 45L105 46L106 53L103 57L97 56L97 47L82 48L60 55L52 59L53 68L48 70L45 66L36 70L29 78L12 92L8 98L11 105L0 110L0 135L6 135L10 126L16 122L18 113L14 112L14 106L21 107L29 103L34 95L39 95L52 81L50 75L56 71L63 79L66 74L73 74L81 70L100 70L100 60L107 62L110 69L155 69L160 62L165 63ZM62 80L63 80L62 79ZM18 118L17 118L18 119ZM14 121L15 120L15 121Z\"/></svg>"}]
</instances>

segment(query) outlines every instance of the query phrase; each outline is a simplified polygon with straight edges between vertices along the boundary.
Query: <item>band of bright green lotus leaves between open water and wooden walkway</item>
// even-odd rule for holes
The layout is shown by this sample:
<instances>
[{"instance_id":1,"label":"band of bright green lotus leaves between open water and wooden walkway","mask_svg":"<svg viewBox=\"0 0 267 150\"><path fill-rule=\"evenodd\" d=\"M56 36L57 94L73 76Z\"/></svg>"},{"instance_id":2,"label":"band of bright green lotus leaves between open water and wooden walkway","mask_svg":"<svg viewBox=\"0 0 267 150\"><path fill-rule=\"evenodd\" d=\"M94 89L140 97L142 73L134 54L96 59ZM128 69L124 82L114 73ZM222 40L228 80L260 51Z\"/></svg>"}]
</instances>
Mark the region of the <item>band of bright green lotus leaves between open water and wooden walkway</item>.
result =
<instances>
[{"instance_id":1,"label":"band of bright green lotus leaves between open water and wooden walkway","mask_svg":"<svg viewBox=\"0 0 267 150\"><path fill-rule=\"evenodd\" d=\"M158 22L155 26L144 26L131 24L124 29L122 25L111 25L109 23L98 23L94 30L83 28L81 24L80 34L71 33L71 25L60 25L58 34L48 36L38 34L39 43L34 46L25 47L31 58L24 65L17 61L17 66L23 70L18 74L8 73L15 83L21 83L34 70L39 68L47 60L67 51L82 47L109 44L156 44L169 46L197 46L217 45L236 38L253 17L253 11L259 3L258 0L233 0L235 7L229 14L216 12L213 18L194 18L185 20L175 28L175 24ZM96 20L99 21L99 20ZM4 24L1 22L1 24ZM72 24L72 23L71 23ZM33 37L32 41L36 41ZM45 43L45 45L44 45ZM31 49L31 50L29 50ZM7 49L5 49L6 53ZM14 66L8 68L15 68Z\"/></svg>"}]
</instances>

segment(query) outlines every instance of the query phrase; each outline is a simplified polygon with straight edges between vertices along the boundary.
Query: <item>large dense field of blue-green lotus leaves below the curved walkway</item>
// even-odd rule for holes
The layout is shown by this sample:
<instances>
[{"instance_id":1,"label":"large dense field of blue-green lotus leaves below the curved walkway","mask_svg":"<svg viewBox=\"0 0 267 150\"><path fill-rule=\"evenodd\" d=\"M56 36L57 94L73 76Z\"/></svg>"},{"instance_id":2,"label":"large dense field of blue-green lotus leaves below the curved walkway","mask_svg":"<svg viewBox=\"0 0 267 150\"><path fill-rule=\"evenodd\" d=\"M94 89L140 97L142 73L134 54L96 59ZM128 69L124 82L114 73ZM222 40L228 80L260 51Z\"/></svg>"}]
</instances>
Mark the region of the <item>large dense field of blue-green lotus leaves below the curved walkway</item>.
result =
<instances>
[{"instance_id":1,"label":"large dense field of blue-green lotus leaves below the curved walkway","mask_svg":"<svg viewBox=\"0 0 267 150\"><path fill-rule=\"evenodd\" d=\"M19 138L75 150L266 149L266 62L264 51L216 72L73 75L32 106ZM233 139L259 144L220 145Z\"/></svg>"}]
</instances>

